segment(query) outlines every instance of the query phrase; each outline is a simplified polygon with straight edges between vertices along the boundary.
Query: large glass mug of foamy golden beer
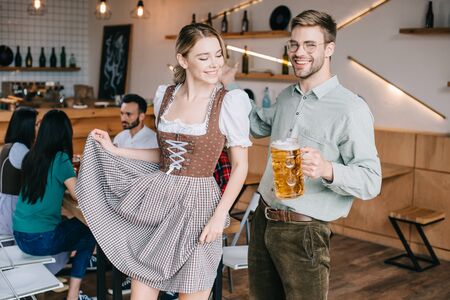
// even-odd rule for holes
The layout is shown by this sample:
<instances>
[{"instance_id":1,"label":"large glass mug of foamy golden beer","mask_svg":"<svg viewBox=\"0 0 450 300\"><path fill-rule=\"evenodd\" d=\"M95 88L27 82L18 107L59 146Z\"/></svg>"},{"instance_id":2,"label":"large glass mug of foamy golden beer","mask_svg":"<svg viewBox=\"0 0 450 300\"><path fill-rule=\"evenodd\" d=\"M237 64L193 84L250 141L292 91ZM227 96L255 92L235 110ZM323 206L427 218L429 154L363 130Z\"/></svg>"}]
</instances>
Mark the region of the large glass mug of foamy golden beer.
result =
<instances>
[{"instance_id":1,"label":"large glass mug of foamy golden beer","mask_svg":"<svg viewBox=\"0 0 450 300\"><path fill-rule=\"evenodd\" d=\"M290 199L303 195L302 156L297 139L273 141L270 150L277 198Z\"/></svg>"}]
</instances>

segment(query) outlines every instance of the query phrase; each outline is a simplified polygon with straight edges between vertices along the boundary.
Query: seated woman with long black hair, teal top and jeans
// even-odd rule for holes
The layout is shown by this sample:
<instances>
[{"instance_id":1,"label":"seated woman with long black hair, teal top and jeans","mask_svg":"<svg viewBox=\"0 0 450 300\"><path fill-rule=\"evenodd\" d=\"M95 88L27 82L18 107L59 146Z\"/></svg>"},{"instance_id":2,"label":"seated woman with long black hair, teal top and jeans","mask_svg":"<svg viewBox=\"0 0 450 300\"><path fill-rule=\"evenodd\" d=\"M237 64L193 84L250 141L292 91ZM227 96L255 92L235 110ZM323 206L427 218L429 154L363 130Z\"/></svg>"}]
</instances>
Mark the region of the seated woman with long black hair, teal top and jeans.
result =
<instances>
[{"instance_id":1,"label":"seated woman with long black hair, teal top and jeans","mask_svg":"<svg viewBox=\"0 0 450 300\"><path fill-rule=\"evenodd\" d=\"M72 262L67 300L90 300L80 293L95 239L76 218L61 220L67 189L75 199L72 166L72 126L67 115L50 110L42 119L36 142L22 164L23 181L13 217L19 248L31 255L76 251Z\"/></svg>"}]
</instances>

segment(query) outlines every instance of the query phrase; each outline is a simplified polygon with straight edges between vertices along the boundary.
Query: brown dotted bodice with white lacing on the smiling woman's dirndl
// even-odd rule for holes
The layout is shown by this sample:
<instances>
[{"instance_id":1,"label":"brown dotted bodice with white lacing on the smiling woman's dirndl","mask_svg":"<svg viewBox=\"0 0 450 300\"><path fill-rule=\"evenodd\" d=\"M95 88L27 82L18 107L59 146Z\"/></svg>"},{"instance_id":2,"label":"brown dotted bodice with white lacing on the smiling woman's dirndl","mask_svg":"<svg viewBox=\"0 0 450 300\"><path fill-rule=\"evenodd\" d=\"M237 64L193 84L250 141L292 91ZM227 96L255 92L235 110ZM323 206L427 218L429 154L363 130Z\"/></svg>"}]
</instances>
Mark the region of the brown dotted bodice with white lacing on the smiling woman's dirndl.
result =
<instances>
[{"instance_id":1,"label":"brown dotted bodice with white lacing on the smiling woman's dirndl","mask_svg":"<svg viewBox=\"0 0 450 300\"><path fill-rule=\"evenodd\" d=\"M171 103L174 91L174 85L166 89L159 109L158 122ZM225 145L225 136L219 128L220 109L225 94L226 90L220 88L212 103L210 103L206 134L197 136L157 130L161 150L161 171L169 171L172 164L172 166L178 165L178 168L175 167L170 173L172 175L191 177L210 177L213 175L217 160ZM174 160L179 161L178 164L173 163L173 159L170 158L171 155Z\"/></svg>"}]
</instances>

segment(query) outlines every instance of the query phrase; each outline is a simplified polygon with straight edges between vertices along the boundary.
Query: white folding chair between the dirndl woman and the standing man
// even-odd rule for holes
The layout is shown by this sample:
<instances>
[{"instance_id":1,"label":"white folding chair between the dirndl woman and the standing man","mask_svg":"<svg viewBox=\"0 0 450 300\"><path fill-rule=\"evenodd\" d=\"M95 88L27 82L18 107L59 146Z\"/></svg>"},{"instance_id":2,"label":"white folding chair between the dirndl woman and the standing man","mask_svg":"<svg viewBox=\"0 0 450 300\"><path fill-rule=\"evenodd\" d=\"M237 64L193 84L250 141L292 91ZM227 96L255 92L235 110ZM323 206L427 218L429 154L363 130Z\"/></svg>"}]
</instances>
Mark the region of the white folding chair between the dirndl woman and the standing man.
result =
<instances>
[{"instance_id":1,"label":"white folding chair between the dirndl woman and the standing man","mask_svg":"<svg viewBox=\"0 0 450 300\"><path fill-rule=\"evenodd\" d=\"M244 228L247 228L249 223L249 216L256 210L258 206L260 195L258 193L254 193L252 199L250 200L247 209L242 217L242 220L239 225L239 230L233 236L233 240L231 241L230 246L223 247L223 264L225 267L228 267L228 283L230 292L233 292L233 280L231 278L231 271L246 269L248 268L247 263L247 253L248 253L248 245L239 245L237 246L237 241L242 233ZM250 235L247 236L248 240L250 240Z\"/></svg>"}]
</instances>

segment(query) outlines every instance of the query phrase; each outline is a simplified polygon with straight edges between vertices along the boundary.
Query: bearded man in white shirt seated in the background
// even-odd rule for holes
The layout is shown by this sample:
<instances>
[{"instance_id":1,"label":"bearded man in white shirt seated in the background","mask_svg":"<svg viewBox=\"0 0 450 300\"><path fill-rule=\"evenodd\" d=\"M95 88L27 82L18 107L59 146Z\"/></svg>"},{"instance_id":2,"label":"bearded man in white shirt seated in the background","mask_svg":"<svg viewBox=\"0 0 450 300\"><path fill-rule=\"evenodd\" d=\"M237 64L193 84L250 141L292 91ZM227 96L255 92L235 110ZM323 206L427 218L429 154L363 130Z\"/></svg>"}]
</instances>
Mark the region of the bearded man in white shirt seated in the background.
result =
<instances>
[{"instance_id":1,"label":"bearded man in white shirt seated in the background","mask_svg":"<svg viewBox=\"0 0 450 300\"><path fill-rule=\"evenodd\" d=\"M156 133L144 124L147 102L139 95L128 94L122 99L120 120L124 129L113 140L117 147L158 148Z\"/></svg>"}]
</instances>

